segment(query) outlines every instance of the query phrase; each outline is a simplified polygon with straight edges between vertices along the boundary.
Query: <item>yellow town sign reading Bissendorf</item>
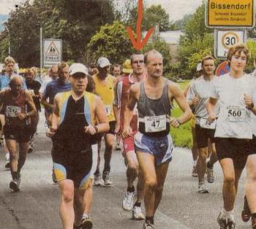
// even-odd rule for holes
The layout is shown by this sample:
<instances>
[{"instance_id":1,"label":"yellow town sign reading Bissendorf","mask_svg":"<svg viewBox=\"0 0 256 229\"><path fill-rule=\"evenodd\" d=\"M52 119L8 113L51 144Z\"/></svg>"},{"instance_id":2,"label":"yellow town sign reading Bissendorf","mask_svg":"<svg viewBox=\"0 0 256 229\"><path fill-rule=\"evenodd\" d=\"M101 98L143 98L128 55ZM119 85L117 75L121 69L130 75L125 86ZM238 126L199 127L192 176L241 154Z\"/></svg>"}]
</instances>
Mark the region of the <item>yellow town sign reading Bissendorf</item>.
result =
<instances>
[{"instance_id":1,"label":"yellow town sign reading Bissendorf","mask_svg":"<svg viewBox=\"0 0 256 229\"><path fill-rule=\"evenodd\" d=\"M206 26L235 28L255 26L254 0L205 0Z\"/></svg>"}]
</instances>

